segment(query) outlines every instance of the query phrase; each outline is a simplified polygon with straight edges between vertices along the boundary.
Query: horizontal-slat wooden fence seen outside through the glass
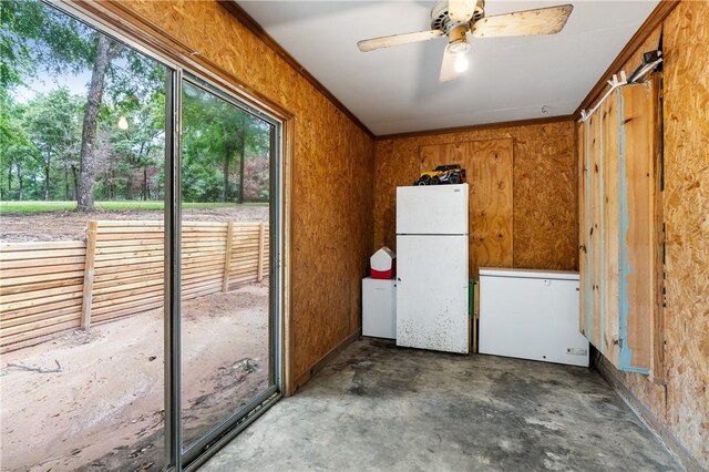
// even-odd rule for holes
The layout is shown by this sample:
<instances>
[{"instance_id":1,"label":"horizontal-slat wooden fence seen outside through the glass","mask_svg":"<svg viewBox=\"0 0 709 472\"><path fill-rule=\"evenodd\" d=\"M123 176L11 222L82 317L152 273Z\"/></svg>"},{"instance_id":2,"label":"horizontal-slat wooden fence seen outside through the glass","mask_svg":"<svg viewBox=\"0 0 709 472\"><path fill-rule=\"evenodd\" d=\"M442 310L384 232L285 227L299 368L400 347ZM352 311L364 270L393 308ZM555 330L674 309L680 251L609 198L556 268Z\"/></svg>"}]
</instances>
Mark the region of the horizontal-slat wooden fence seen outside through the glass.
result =
<instances>
[{"instance_id":1,"label":"horizontal-slat wooden fence seen outside through the glass","mask_svg":"<svg viewBox=\"0 0 709 472\"><path fill-rule=\"evenodd\" d=\"M163 306L163 224L89 222L85 242L0 244L0 351ZM260 281L266 223L183 223L182 299Z\"/></svg>"}]
</instances>

